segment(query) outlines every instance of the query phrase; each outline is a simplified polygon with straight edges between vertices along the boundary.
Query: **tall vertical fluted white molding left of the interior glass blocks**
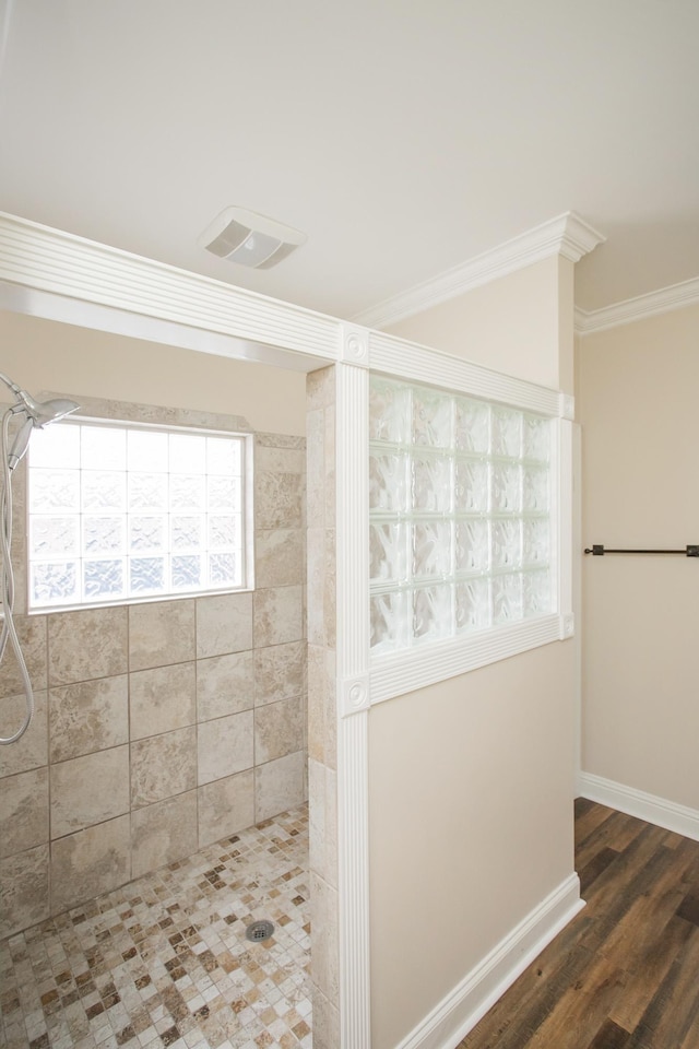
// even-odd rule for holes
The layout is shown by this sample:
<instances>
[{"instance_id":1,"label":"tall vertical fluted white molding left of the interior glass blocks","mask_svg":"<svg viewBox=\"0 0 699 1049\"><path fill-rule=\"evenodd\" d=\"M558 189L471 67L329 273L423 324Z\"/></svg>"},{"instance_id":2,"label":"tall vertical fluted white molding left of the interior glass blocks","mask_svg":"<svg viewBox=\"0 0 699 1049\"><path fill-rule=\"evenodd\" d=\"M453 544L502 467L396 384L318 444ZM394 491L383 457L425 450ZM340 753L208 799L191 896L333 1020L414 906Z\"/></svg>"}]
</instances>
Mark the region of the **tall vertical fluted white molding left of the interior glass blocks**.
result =
<instances>
[{"instance_id":1,"label":"tall vertical fluted white molding left of the interior glass blocks","mask_svg":"<svg viewBox=\"0 0 699 1049\"><path fill-rule=\"evenodd\" d=\"M371 1041L369 373L350 364L335 366L335 503L340 1044L365 1049Z\"/></svg>"}]
</instances>

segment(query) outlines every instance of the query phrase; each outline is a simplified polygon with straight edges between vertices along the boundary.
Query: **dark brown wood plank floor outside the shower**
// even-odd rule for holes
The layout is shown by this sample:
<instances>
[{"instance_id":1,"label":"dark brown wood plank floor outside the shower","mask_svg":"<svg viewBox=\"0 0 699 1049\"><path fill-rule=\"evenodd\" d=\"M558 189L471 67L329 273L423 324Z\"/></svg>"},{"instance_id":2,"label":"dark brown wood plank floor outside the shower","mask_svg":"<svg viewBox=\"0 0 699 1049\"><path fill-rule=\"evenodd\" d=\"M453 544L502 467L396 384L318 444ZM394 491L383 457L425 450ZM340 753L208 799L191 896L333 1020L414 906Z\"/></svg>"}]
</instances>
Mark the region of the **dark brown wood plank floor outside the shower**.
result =
<instances>
[{"instance_id":1,"label":"dark brown wood plank floor outside the shower","mask_svg":"<svg viewBox=\"0 0 699 1049\"><path fill-rule=\"evenodd\" d=\"M457 1049L699 1049L699 841L576 803L588 906Z\"/></svg>"}]
</instances>

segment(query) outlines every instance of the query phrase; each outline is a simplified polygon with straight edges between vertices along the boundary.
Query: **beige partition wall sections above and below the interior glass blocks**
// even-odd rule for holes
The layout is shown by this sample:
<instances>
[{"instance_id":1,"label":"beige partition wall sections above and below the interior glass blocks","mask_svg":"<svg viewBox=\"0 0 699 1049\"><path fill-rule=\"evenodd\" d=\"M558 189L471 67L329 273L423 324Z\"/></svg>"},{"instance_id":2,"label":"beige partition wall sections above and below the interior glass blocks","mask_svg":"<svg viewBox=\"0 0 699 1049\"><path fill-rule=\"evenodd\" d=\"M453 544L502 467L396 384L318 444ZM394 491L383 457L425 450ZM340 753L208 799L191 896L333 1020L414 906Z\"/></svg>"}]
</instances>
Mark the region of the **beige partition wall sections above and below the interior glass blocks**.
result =
<instances>
[{"instance_id":1,"label":"beige partition wall sections above and below the interior glass blocks","mask_svg":"<svg viewBox=\"0 0 699 1049\"><path fill-rule=\"evenodd\" d=\"M393 330L569 388L571 316L572 266L549 260ZM574 651L547 645L371 708L374 1049L572 873Z\"/></svg>"}]
</instances>

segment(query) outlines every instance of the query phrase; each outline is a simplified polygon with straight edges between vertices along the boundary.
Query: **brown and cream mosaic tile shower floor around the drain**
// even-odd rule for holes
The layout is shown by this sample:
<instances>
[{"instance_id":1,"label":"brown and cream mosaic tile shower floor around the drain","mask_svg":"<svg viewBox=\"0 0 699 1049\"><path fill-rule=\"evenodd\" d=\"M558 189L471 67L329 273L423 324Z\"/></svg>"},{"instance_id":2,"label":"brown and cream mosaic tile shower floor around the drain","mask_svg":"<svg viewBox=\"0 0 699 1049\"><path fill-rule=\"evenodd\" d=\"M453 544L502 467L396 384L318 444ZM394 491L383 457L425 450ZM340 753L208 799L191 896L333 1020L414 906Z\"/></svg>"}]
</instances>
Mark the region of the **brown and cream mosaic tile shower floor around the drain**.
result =
<instances>
[{"instance_id":1,"label":"brown and cream mosaic tile shower floor around the drain","mask_svg":"<svg viewBox=\"0 0 699 1049\"><path fill-rule=\"evenodd\" d=\"M304 806L0 943L0 1045L310 1049L309 933Z\"/></svg>"}]
</instances>

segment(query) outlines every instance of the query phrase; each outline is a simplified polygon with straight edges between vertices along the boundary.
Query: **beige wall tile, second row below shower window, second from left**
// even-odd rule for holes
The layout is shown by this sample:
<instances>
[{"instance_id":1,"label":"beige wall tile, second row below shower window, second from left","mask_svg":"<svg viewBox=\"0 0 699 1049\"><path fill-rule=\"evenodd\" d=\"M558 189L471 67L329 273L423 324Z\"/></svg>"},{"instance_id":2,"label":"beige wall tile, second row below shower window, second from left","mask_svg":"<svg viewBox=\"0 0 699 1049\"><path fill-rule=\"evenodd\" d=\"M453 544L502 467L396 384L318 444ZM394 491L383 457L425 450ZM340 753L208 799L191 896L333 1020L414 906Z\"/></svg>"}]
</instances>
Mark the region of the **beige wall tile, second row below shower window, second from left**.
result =
<instances>
[{"instance_id":1,"label":"beige wall tile, second row below shower window, second from left","mask_svg":"<svg viewBox=\"0 0 699 1049\"><path fill-rule=\"evenodd\" d=\"M129 682L126 674L51 688L51 762L129 742Z\"/></svg>"}]
</instances>

